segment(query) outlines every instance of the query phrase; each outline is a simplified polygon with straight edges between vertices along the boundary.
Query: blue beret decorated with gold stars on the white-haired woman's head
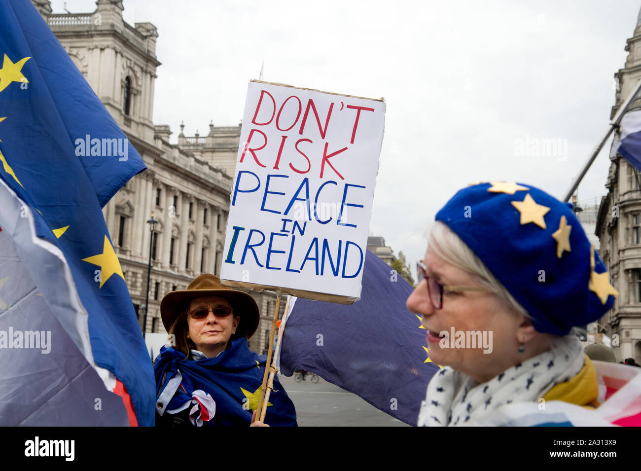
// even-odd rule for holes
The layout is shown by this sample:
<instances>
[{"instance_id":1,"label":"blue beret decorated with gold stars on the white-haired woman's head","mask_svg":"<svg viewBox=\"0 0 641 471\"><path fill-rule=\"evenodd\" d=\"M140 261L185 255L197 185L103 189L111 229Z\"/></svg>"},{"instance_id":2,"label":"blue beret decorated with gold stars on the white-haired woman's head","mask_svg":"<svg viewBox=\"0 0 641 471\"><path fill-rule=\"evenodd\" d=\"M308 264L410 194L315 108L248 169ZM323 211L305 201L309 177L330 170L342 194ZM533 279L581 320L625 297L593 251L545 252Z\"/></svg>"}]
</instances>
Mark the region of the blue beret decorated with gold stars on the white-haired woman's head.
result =
<instances>
[{"instance_id":1,"label":"blue beret decorated with gold stars on the white-haired woman's head","mask_svg":"<svg viewBox=\"0 0 641 471\"><path fill-rule=\"evenodd\" d=\"M522 183L468 186L438 211L533 318L567 335L612 309L619 293L570 205Z\"/></svg>"}]
</instances>

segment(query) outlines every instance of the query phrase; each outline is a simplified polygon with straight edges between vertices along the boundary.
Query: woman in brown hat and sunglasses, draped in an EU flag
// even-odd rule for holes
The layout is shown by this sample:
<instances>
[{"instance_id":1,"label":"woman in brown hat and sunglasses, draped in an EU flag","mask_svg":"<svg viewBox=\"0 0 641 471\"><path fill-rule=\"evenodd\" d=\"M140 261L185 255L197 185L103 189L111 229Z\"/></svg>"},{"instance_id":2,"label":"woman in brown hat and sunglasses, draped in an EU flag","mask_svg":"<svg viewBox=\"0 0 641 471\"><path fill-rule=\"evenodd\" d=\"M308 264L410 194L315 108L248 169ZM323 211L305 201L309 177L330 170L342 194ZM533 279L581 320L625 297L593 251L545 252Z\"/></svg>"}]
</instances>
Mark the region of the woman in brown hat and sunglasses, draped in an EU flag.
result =
<instances>
[{"instance_id":1,"label":"woman in brown hat and sunglasses, draped in an EU flag","mask_svg":"<svg viewBox=\"0 0 641 471\"><path fill-rule=\"evenodd\" d=\"M258 327L254 299L203 274L187 290L167 293L160 315L171 347L154 363L156 426L248 426L266 361L247 345ZM294 404L276 378L269 401L267 424L297 425Z\"/></svg>"}]
</instances>

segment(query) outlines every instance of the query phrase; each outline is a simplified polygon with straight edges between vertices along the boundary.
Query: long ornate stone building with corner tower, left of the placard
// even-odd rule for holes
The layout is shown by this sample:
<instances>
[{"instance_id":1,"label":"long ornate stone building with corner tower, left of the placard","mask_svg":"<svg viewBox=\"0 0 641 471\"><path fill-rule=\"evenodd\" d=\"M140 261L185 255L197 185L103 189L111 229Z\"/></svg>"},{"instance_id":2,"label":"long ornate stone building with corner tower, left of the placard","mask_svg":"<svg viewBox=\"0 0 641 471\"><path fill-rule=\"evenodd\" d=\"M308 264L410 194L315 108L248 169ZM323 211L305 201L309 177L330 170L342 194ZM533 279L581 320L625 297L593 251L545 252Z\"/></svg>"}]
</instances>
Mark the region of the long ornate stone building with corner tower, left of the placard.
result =
<instances>
[{"instance_id":1,"label":"long ornate stone building with corner tower, left of the placard","mask_svg":"<svg viewBox=\"0 0 641 471\"><path fill-rule=\"evenodd\" d=\"M121 0L97 0L94 12L63 14L53 14L49 0L32 1L147 166L103 214L141 328L151 252L145 331L163 333L162 297L187 288L199 274L220 272L240 126L211 124L205 137L185 137L181 126L178 145L170 144L169 126L152 120L160 66L153 24L124 22ZM251 295L261 322L249 345L263 353L276 296Z\"/></svg>"}]
</instances>

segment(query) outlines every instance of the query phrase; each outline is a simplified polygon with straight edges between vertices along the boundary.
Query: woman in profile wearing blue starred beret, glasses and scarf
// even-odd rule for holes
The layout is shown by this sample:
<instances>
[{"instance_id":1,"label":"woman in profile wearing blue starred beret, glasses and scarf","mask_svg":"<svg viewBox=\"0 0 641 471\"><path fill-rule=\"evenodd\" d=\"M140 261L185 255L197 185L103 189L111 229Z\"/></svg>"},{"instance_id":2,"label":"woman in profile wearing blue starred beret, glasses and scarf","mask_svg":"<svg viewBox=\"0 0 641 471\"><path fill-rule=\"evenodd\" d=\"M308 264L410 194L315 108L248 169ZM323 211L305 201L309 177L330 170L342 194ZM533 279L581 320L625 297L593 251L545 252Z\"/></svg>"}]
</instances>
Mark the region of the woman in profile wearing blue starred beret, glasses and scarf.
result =
<instances>
[{"instance_id":1,"label":"woman in profile wearing blue starred beret, glasses and scarf","mask_svg":"<svg viewBox=\"0 0 641 471\"><path fill-rule=\"evenodd\" d=\"M437 213L407 300L444 366L418 425L611 425L585 413L603 400L601 362L570 330L617 294L569 204L520 183L460 190Z\"/></svg>"}]
</instances>

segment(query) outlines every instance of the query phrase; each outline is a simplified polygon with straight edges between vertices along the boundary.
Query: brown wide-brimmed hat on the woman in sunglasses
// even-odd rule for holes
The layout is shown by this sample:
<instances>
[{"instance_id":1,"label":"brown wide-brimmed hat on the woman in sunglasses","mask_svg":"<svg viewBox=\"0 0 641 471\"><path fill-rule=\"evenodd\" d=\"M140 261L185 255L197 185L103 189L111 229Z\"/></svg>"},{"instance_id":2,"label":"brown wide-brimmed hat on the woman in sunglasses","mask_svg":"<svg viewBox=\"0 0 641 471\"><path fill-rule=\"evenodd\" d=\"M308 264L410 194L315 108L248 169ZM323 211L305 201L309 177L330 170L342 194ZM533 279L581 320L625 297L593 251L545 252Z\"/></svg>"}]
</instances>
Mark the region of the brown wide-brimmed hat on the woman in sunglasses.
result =
<instances>
[{"instance_id":1,"label":"brown wide-brimmed hat on the woman in sunglasses","mask_svg":"<svg viewBox=\"0 0 641 471\"><path fill-rule=\"evenodd\" d=\"M188 307L189 302L201 296L220 296L229 301L234 315L240 317L235 337L249 338L258 329L260 313L254 298L245 292L222 286L219 277L206 273L194 278L186 290L169 292L160 301L160 317L167 332L176 317Z\"/></svg>"}]
</instances>

